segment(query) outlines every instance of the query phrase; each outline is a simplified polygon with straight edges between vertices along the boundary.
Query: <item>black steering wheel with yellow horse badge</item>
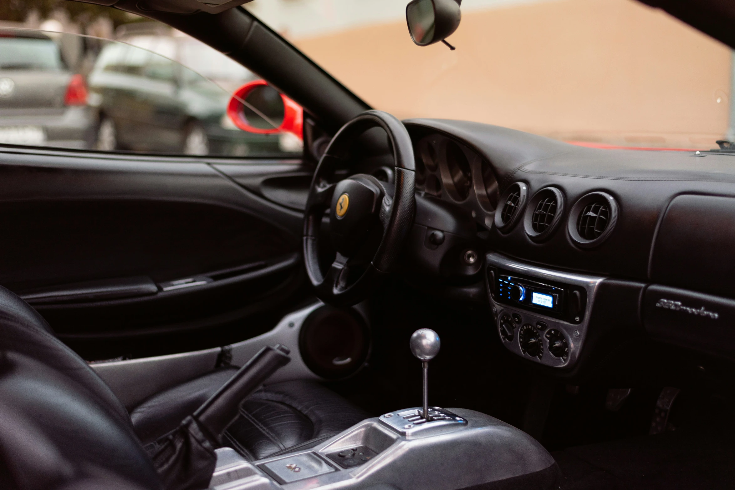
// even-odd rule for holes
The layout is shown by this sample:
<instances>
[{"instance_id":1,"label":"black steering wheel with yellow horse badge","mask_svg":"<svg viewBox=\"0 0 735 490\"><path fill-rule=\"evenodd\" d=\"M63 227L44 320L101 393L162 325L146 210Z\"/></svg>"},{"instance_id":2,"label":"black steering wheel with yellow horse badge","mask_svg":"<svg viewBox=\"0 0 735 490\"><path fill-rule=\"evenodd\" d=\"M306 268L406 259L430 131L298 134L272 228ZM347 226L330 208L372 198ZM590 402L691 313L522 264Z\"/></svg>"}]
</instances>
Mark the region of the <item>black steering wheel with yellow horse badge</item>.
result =
<instances>
[{"instance_id":1,"label":"black steering wheel with yellow horse badge","mask_svg":"<svg viewBox=\"0 0 735 490\"><path fill-rule=\"evenodd\" d=\"M384 129L392 148L393 185L367 174L337 180L338 170L350 168L355 140L376 127ZM414 218L414 191L413 147L400 120L387 112L366 111L337 131L314 173L304 212L304 263L319 299L356 304L395 268ZM337 254L323 273L319 242L327 210Z\"/></svg>"}]
</instances>

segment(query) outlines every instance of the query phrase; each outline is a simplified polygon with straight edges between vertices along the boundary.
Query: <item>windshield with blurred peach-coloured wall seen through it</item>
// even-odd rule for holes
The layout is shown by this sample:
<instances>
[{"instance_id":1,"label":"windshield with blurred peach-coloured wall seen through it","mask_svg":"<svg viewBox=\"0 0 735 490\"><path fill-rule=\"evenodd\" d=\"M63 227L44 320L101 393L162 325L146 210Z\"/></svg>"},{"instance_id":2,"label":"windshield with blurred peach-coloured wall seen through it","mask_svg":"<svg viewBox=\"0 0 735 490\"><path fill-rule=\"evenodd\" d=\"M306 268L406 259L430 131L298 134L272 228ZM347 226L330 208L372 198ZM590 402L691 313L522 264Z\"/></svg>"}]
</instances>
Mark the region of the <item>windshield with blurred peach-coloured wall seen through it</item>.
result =
<instances>
[{"instance_id":1,"label":"windshield with blurred peach-coloured wall seen through it","mask_svg":"<svg viewBox=\"0 0 735 490\"><path fill-rule=\"evenodd\" d=\"M730 48L634 0L464 0L421 48L407 0L245 8L376 109L578 144L709 149L735 135Z\"/></svg>"}]
</instances>

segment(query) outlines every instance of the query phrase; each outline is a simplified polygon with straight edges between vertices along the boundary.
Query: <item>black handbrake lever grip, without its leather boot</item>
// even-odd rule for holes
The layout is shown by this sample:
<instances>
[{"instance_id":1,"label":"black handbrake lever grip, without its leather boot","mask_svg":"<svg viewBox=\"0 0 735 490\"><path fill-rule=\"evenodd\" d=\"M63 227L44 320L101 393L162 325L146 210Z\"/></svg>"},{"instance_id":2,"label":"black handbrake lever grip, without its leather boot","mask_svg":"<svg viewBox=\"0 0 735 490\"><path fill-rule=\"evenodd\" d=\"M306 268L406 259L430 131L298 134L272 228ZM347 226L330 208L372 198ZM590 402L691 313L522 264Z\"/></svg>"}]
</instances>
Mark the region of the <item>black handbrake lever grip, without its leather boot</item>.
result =
<instances>
[{"instance_id":1,"label":"black handbrake lever grip, without its leather boot","mask_svg":"<svg viewBox=\"0 0 735 490\"><path fill-rule=\"evenodd\" d=\"M289 353L285 345L266 345L194 412L193 417L209 433L207 436L219 440L240 415L245 398L291 361Z\"/></svg>"}]
</instances>

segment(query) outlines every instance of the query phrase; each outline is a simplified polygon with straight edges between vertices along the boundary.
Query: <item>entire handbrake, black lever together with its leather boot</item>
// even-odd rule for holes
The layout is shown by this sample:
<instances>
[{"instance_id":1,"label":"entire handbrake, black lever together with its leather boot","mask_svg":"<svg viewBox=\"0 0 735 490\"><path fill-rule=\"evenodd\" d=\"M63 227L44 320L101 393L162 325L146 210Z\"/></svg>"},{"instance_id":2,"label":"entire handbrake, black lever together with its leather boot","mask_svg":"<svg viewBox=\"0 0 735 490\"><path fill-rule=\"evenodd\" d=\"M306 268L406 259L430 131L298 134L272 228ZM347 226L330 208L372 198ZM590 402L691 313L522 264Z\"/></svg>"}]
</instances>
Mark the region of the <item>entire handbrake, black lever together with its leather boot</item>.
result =
<instances>
[{"instance_id":1,"label":"entire handbrake, black lever together with its leather boot","mask_svg":"<svg viewBox=\"0 0 735 490\"><path fill-rule=\"evenodd\" d=\"M193 416L165 437L151 456L167 490L199 490L209 486L215 471L215 447L237 419L240 406L291 358L283 345L260 349Z\"/></svg>"}]
</instances>

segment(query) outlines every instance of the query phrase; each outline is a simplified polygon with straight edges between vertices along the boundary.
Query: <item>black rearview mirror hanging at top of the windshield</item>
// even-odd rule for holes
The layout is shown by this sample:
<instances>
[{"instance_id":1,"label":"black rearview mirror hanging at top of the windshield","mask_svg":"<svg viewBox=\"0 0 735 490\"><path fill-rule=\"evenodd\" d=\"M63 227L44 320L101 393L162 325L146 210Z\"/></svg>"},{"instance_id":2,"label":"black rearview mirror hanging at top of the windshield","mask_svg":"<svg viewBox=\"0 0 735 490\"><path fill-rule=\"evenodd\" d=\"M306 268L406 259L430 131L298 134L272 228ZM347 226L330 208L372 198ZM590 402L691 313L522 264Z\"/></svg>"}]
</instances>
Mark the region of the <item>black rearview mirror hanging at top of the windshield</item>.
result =
<instances>
[{"instance_id":1,"label":"black rearview mirror hanging at top of the windshield","mask_svg":"<svg viewBox=\"0 0 735 490\"><path fill-rule=\"evenodd\" d=\"M420 46L442 41L451 49L452 45L445 41L459 26L462 12L459 4L462 0L413 0L406 5L406 23L414 43Z\"/></svg>"}]
</instances>

